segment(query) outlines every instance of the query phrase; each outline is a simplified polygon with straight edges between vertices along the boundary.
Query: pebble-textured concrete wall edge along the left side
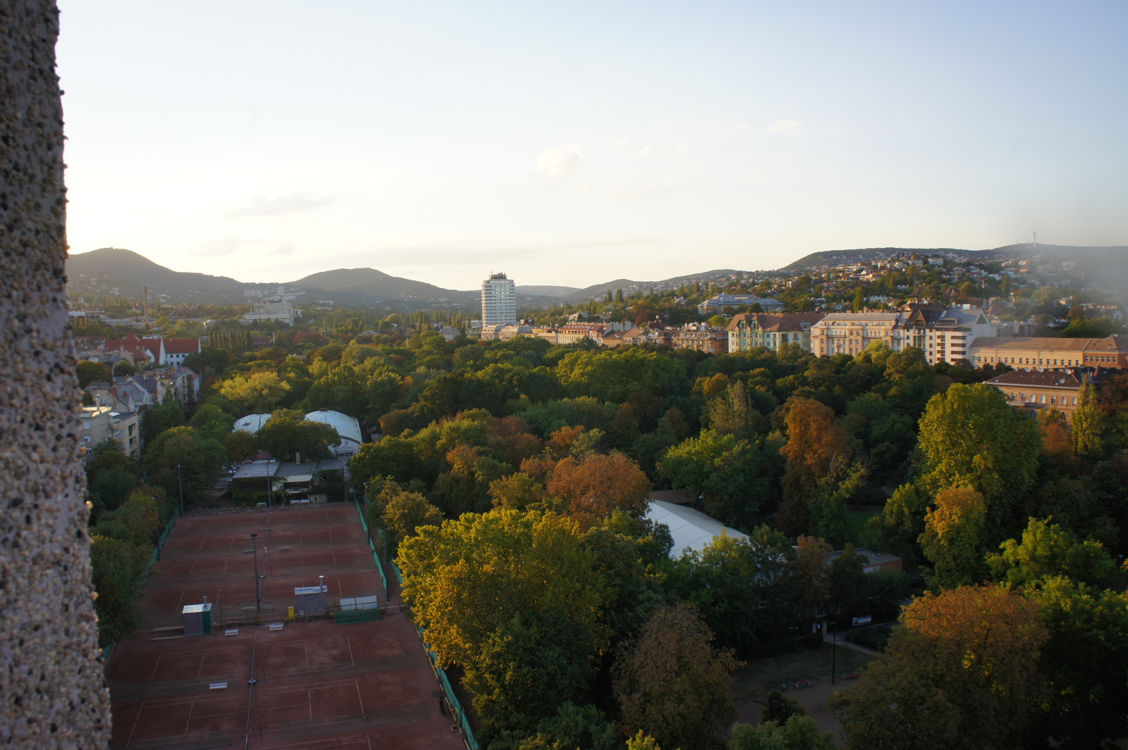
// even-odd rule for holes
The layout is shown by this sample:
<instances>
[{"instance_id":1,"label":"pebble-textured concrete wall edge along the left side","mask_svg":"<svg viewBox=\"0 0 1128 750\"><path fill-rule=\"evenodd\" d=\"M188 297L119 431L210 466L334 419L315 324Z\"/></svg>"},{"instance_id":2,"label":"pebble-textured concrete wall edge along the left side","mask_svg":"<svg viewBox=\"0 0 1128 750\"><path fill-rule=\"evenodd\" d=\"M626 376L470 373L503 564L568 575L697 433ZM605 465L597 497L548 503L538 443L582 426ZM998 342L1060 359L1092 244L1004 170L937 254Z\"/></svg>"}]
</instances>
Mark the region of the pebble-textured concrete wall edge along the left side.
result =
<instances>
[{"instance_id":1,"label":"pebble-textured concrete wall edge along the left side","mask_svg":"<svg viewBox=\"0 0 1128 750\"><path fill-rule=\"evenodd\" d=\"M0 0L0 747L105 748L53 0Z\"/></svg>"}]
</instances>

